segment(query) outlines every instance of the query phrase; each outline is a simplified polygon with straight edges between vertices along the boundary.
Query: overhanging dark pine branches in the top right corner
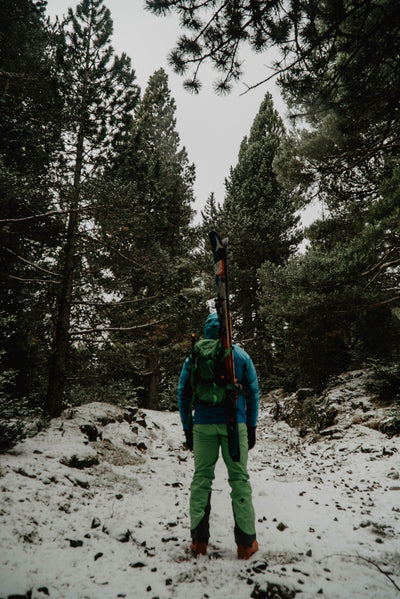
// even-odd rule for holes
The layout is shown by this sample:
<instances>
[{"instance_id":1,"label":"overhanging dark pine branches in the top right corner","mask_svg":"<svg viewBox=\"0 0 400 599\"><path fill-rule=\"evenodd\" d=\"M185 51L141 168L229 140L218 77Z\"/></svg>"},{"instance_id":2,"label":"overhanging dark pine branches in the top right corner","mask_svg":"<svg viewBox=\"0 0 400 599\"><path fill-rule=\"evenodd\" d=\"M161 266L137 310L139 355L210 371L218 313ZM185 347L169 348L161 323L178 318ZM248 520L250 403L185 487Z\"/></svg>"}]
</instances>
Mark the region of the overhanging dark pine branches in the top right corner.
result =
<instances>
[{"instance_id":1,"label":"overhanging dark pine branches in the top right corner","mask_svg":"<svg viewBox=\"0 0 400 599\"><path fill-rule=\"evenodd\" d=\"M320 118L332 109L343 131L374 152L398 125L399 25L395 0L146 0L155 14L176 12L183 33L170 54L186 86L201 88L201 66L220 73L216 88L229 90L242 74L240 52L279 50L274 72L291 105ZM387 117L390 116L388 119ZM354 127L354 123L359 127Z\"/></svg>"}]
</instances>

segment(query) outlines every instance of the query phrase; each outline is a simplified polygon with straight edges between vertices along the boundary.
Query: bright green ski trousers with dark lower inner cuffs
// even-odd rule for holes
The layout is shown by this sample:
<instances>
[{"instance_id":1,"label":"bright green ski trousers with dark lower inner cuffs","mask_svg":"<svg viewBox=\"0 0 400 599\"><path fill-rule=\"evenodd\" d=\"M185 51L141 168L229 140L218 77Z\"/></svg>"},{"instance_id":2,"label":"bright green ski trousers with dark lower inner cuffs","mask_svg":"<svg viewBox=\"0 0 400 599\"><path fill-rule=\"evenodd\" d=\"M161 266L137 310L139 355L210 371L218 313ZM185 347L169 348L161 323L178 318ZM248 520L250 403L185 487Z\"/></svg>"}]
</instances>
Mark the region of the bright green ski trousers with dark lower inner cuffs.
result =
<instances>
[{"instance_id":1,"label":"bright green ski trousers with dark lower inner cuffs","mask_svg":"<svg viewBox=\"0 0 400 599\"><path fill-rule=\"evenodd\" d=\"M231 486L236 543L251 546L256 538L255 514L247 472L247 426L245 423L239 423L238 426L239 462L233 462L229 455L226 424L195 424L193 426L195 470L190 488L190 528L193 540L198 539L208 543L211 488L220 447Z\"/></svg>"}]
</instances>

